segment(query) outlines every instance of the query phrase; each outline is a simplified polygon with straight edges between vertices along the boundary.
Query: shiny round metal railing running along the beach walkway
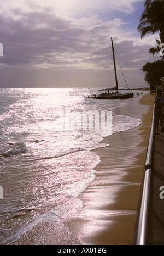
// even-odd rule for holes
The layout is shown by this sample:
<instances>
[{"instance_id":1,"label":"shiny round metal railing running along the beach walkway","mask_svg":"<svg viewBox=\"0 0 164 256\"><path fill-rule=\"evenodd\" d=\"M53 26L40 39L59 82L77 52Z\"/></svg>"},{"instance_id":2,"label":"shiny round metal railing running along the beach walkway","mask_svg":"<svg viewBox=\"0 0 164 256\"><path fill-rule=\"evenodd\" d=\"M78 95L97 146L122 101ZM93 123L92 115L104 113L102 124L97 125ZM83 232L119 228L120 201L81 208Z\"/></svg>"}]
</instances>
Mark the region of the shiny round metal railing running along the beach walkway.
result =
<instances>
[{"instance_id":1,"label":"shiny round metal railing running along the beach walkway","mask_svg":"<svg viewBox=\"0 0 164 256\"><path fill-rule=\"evenodd\" d=\"M145 176L142 192L142 201L140 205L137 245L149 245L153 243L153 172L154 172L154 146L155 146L155 109L145 159Z\"/></svg>"}]
</instances>

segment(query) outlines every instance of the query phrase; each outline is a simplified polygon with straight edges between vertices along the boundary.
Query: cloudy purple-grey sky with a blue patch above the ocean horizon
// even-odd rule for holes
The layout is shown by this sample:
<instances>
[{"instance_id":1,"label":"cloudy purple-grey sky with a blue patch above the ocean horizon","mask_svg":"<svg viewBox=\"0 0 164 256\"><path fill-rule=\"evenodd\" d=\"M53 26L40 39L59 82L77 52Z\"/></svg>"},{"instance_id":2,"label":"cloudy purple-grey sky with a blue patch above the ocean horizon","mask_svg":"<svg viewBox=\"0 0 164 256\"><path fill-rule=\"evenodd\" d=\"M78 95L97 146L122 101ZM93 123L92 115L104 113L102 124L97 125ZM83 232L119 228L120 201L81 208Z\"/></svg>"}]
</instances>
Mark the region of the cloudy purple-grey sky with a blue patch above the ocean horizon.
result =
<instances>
[{"instance_id":1,"label":"cloudy purple-grey sky with a blue patch above the ocean horizon","mask_svg":"<svg viewBox=\"0 0 164 256\"><path fill-rule=\"evenodd\" d=\"M143 0L0 2L1 88L113 87L111 37L128 87L148 87L141 69L153 62L148 50L159 35L140 38Z\"/></svg>"}]
</instances>

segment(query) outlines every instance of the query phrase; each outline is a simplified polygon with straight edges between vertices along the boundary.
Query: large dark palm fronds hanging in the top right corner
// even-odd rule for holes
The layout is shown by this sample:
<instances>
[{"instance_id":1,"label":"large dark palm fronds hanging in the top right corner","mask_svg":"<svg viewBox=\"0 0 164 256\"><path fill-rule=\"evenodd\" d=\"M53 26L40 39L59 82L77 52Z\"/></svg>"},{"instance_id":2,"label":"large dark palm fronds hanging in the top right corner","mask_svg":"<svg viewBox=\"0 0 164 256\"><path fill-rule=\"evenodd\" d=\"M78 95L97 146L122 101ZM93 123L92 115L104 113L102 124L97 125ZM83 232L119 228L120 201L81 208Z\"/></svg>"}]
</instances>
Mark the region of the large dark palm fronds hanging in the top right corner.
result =
<instances>
[{"instance_id":1,"label":"large dark palm fronds hanging in the top right corner","mask_svg":"<svg viewBox=\"0 0 164 256\"><path fill-rule=\"evenodd\" d=\"M140 17L140 23L137 27L141 38L147 34L159 32L160 41L164 43L164 1L146 0L145 10Z\"/></svg>"}]
</instances>

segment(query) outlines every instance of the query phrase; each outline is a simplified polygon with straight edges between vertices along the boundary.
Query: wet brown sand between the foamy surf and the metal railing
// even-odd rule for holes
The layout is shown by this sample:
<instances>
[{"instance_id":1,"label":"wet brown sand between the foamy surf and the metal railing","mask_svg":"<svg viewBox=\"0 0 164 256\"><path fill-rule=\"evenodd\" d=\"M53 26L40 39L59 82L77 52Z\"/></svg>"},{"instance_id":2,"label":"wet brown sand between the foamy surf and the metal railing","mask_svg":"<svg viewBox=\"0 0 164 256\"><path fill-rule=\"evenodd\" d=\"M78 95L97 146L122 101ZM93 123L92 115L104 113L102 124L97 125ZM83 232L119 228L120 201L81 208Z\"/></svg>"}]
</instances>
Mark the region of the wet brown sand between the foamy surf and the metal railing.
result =
<instances>
[{"instance_id":1,"label":"wet brown sand between the foamy surf and the metal railing","mask_svg":"<svg viewBox=\"0 0 164 256\"><path fill-rule=\"evenodd\" d=\"M132 244L147 151L154 96L138 97L112 114L139 118L142 124L104 138L108 147L92 151L101 162L96 179L79 197L83 211L67 225L82 244Z\"/></svg>"}]
</instances>

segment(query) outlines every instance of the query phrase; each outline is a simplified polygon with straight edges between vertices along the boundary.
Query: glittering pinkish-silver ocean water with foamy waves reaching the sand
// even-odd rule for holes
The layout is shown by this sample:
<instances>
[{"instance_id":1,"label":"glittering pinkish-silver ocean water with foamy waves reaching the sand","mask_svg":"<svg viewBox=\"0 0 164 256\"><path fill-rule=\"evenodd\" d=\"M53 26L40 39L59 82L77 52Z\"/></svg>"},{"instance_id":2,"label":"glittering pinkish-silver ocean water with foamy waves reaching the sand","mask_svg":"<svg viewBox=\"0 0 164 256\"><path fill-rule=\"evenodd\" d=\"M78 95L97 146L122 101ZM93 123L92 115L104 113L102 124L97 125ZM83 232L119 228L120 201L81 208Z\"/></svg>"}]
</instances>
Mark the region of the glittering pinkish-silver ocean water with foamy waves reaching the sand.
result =
<instances>
[{"instance_id":1,"label":"glittering pinkish-silver ocean water with foamy waves reaching the sand","mask_svg":"<svg viewBox=\"0 0 164 256\"><path fill-rule=\"evenodd\" d=\"M0 244L10 244L43 218L73 219L100 161L91 149L141 120L112 114L137 91L126 100L91 99L88 88L0 92Z\"/></svg>"}]
</instances>

